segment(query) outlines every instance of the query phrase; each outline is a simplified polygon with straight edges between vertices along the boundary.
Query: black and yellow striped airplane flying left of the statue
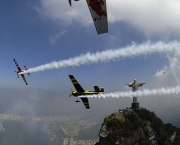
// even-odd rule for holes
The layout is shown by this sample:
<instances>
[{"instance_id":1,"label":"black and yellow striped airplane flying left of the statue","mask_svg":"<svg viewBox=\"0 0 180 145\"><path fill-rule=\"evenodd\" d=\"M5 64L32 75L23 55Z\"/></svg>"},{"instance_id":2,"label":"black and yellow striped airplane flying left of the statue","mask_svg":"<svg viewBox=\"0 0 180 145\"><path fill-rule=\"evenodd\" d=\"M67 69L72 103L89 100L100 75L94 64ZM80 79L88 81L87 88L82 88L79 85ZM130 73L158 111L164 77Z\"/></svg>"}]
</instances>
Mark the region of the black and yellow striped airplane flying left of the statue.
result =
<instances>
[{"instance_id":1,"label":"black and yellow striped airplane flying left of the statue","mask_svg":"<svg viewBox=\"0 0 180 145\"><path fill-rule=\"evenodd\" d=\"M71 97L71 95L74 97L78 97L82 95L85 96L85 95L94 95L94 94L104 94L104 88L99 88L98 86L94 86L95 91L84 90L81 87L81 85L78 83L78 81L74 78L73 75L69 75L69 78L76 89L76 91L72 91L69 97ZM80 97L80 98L86 109L90 109L88 98L87 97ZM77 99L76 102L78 103L80 101Z\"/></svg>"}]
</instances>

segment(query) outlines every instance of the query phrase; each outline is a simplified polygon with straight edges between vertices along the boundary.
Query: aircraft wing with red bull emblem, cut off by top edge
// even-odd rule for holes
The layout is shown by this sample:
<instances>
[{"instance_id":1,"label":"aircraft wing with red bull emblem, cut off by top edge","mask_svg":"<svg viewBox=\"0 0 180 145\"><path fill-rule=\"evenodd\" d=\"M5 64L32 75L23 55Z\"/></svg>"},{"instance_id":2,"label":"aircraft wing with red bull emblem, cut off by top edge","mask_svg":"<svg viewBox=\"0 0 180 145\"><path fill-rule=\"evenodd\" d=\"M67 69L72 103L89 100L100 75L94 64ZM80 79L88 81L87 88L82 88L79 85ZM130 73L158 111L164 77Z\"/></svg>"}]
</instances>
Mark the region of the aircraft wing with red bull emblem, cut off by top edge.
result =
<instances>
[{"instance_id":1,"label":"aircraft wing with red bull emblem, cut off by top edge","mask_svg":"<svg viewBox=\"0 0 180 145\"><path fill-rule=\"evenodd\" d=\"M108 32L106 0L86 0L98 34Z\"/></svg>"}]
</instances>

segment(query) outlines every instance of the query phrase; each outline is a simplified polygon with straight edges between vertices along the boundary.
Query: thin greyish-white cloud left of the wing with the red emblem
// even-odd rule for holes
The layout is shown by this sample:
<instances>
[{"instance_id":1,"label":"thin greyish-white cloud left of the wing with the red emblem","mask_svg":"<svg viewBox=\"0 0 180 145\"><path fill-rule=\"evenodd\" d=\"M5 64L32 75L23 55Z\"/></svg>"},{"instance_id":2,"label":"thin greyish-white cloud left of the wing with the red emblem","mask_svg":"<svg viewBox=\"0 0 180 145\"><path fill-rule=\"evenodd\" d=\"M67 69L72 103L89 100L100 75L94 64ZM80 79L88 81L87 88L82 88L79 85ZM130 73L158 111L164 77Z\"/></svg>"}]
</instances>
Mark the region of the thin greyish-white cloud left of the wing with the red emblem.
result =
<instances>
[{"instance_id":1,"label":"thin greyish-white cloud left of the wing with the red emblem","mask_svg":"<svg viewBox=\"0 0 180 145\"><path fill-rule=\"evenodd\" d=\"M73 7L70 7L68 1L60 0L41 0L40 6L36 6L36 11L41 15L54 22L61 23L64 21L66 24L72 24L73 20L87 24L88 7L85 1L74 2Z\"/></svg>"}]
</instances>

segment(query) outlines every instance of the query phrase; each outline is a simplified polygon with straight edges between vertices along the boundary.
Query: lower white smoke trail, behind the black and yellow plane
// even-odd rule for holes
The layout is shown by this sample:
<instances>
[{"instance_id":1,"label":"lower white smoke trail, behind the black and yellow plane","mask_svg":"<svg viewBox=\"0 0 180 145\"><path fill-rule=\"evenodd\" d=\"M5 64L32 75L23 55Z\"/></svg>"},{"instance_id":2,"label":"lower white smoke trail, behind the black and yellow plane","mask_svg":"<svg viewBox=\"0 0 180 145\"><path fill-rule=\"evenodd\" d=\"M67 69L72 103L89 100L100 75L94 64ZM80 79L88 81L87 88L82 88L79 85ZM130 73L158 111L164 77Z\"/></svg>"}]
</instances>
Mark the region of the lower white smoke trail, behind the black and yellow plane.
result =
<instances>
[{"instance_id":1,"label":"lower white smoke trail, behind the black and yellow plane","mask_svg":"<svg viewBox=\"0 0 180 145\"><path fill-rule=\"evenodd\" d=\"M159 89L144 89L142 91L138 90L136 92L127 91L127 92L114 92L107 94L99 94L99 95L87 95L87 96L79 96L79 97L87 97L87 98L123 98L133 96L142 97L142 96L150 96L150 95L170 95L170 94L179 94L180 86L170 87L170 88L159 88Z\"/></svg>"}]
</instances>

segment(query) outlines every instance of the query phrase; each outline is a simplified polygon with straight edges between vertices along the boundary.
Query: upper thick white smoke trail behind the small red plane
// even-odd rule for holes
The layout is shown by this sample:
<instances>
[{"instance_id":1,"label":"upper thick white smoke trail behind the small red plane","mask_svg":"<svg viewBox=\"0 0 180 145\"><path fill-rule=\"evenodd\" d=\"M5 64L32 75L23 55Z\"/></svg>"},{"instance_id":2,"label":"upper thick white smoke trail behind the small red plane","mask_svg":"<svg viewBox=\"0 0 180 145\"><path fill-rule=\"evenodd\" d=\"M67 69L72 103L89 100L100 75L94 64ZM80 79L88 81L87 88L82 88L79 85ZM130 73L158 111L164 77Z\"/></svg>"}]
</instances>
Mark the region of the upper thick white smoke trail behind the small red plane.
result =
<instances>
[{"instance_id":1,"label":"upper thick white smoke trail behind the small red plane","mask_svg":"<svg viewBox=\"0 0 180 145\"><path fill-rule=\"evenodd\" d=\"M64 67L80 66L85 64L99 63L99 62L109 62L111 60L119 60L127 57L135 57L139 55L148 55L152 53L173 53L180 48L180 42L173 41L170 43L163 43L161 41L152 44L151 42L146 42L141 45L133 44L119 49L110 49L102 52L96 53L86 53L80 56L69 58L67 60L60 60L58 62L51 62L45 65L40 65L35 68L30 68L23 73L32 73L45 71L50 69L60 69Z\"/></svg>"}]
</instances>

